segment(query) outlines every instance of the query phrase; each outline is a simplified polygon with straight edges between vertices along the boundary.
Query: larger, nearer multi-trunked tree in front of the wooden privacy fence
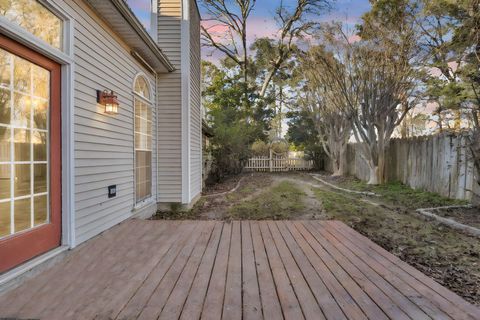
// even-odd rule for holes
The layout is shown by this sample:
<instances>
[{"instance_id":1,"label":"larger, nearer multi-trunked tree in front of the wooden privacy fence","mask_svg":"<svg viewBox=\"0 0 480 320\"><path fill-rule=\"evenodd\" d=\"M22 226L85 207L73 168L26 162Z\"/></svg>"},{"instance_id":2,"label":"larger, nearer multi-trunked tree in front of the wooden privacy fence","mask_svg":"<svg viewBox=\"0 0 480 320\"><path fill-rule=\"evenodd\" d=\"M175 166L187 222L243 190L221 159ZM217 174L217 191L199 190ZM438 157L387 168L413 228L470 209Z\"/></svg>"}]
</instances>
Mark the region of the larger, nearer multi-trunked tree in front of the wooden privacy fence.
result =
<instances>
[{"instance_id":1,"label":"larger, nearer multi-trunked tree in front of the wooden privacy fence","mask_svg":"<svg viewBox=\"0 0 480 320\"><path fill-rule=\"evenodd\" d=\"M416 105L419 59L417 30L408 0L372 1L363 16L361 41L351 44L352 78L359 105L351 106L353 132L369 165L369 184L385 181L385 157L392 134Z\"/></svg>"}]
</instances>

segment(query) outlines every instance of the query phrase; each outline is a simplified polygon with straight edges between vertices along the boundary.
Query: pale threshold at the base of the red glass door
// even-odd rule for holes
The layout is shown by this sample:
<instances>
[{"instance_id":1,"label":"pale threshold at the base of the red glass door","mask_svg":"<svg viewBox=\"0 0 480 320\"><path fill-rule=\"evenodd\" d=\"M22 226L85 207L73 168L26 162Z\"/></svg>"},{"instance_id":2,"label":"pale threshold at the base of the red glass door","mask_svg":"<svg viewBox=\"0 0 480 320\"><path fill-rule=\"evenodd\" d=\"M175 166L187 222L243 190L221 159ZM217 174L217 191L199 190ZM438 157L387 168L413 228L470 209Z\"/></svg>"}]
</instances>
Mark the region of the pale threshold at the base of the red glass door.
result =
<instances>
[{"instance_id":1,"label":"pale threshold at the base of the red glass door","mask_svg":"<svg viewBox=\"0 0 480 320\"><path fill-rule=\"evenodd\" d=\"M24 281L51 267L62 259L67 251L68 246L57 247L0 275L0 294L18 287Z\"/></svg>"}]
</instances>

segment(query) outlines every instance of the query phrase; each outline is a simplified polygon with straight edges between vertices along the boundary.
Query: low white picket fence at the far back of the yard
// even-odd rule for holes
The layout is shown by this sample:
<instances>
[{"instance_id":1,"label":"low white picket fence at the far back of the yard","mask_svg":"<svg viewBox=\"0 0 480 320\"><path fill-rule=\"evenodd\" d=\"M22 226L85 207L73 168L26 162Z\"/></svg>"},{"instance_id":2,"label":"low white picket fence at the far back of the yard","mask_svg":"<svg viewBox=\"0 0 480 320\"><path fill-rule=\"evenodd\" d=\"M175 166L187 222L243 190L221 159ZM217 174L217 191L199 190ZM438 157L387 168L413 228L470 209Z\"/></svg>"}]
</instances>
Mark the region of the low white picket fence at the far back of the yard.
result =
<instances>
[{"instance_id":1,"label":"low white picket fence at the far back of the yard","mask_svg":"<svg viewBox=\"0 0 480 320\"><path fill-rule=\"evenodd\" d=\"M313 160L288 157L253 157L248 159L246 170L265 172L304 171L313 169Z\"/></svg>"}]
</instances>

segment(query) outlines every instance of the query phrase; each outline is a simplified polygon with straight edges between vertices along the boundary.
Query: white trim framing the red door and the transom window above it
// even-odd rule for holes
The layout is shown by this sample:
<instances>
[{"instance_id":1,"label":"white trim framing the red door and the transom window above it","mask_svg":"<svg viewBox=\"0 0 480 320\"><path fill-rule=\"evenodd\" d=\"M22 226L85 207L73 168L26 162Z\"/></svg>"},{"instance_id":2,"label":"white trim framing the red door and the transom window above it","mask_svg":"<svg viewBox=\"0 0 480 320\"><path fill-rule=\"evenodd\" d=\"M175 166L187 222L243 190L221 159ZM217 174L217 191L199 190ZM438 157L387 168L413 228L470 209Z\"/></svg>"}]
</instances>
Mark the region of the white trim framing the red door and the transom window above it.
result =
<instances>
[{"instance_id":1,"label":"white trim framing the red door and the transom window above it","mask_svg":"<svg viewBox=\"0 0 480 320\"><path fill-rule=\"evenodd\" d=\"M0 16L0 32L61 65L62 110L62 245L76 246L75 240L75 160L74 160L74 19L52 0L38 0L62 20L62 50L37 38Z\"/></svg>"}]
</instances>

